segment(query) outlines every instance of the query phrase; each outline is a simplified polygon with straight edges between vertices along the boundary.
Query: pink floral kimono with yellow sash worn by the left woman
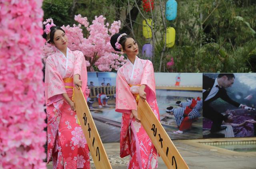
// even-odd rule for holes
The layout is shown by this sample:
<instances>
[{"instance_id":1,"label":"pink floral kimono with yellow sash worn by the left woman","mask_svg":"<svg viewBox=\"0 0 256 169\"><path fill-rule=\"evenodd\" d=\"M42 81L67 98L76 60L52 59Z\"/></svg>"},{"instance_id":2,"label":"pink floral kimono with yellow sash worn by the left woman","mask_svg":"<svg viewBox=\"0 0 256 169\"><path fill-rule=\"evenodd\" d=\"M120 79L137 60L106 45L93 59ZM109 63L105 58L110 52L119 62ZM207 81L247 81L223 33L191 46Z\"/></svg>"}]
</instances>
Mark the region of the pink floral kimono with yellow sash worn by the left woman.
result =
<instances>
[{"instance_id":1,"label":"pink floral kimono with yellow sash worn by the left woman","mask_svg":"<svg viewBox=\"0 0 256 169\"><path fill-rule=\"evenodd\" d=\"M90 168L88 145L82 128L78 125L76 112L62 94L72 97L73 75L79 74L82 91L88 97L87 71L84 55L67 49L65 55L57 50L46 60L45 98L47 112L47 162L52 158L53 168Z\"/></svg>"}]
</instances>

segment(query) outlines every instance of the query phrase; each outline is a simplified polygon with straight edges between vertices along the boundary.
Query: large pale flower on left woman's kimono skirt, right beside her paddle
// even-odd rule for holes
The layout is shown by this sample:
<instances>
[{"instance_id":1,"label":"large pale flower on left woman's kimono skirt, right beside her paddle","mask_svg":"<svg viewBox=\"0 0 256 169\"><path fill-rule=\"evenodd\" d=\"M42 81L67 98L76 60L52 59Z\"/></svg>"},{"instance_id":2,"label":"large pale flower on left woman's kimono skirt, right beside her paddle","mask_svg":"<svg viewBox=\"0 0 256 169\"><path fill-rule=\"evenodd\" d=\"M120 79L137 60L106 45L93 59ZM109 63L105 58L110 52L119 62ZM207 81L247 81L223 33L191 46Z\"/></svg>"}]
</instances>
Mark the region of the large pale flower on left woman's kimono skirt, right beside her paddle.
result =
<instances>
[{"instance_id":1,"label":"large pale flower on left woman's kimono skirt, right beside her paddle","mask_svg":"<svg viewBox=\"0 0 256 169\"><path fill-rule=\"evenodd\" d=\"M82 128L81 127L76 127L72 132L71 134L73 135L72 137L72 141L74 142L74 145L77 145L78 148L79 147L82 147L84 148L85 147L85 144L86 144L86 140L84 138L84 133L82 131Z\"/></svg>"}]
</instances>

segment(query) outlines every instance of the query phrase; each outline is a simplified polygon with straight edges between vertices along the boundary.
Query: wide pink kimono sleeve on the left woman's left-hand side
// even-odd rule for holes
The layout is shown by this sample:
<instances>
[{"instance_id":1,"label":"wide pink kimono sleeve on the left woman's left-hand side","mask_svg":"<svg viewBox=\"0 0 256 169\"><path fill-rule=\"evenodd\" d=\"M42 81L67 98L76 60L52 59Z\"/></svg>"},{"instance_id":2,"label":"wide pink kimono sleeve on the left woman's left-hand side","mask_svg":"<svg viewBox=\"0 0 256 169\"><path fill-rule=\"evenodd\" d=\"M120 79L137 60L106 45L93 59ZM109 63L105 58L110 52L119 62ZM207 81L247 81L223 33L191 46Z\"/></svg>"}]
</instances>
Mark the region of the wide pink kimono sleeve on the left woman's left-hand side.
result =
<instances>
[{"instance_id":1,"label":"wide pink kimono sleeve on the left woman's left-hand side","mask_svg":"<svg viewBox=\"0 0 256 169\"><path fill-rule=\"evenodd\" d=\"M67 93L63 79L56 69L53 58L50 56L46 60L44 83L46 105L62 99L61 94Z\"/></svg>"}]
</instances>

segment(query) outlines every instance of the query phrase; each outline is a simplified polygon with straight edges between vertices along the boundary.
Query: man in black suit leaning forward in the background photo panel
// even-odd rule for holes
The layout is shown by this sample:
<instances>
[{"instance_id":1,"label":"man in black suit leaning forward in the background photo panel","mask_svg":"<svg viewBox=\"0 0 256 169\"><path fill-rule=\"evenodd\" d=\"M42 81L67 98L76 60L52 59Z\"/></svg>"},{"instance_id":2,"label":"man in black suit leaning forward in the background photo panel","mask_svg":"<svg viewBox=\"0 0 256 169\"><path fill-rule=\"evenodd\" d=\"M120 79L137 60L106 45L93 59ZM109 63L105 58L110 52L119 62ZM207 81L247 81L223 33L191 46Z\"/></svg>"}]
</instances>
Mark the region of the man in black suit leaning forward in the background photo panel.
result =
<instances>
[{"instance_id":1,"label":"man in black suit leaning forward in the background photo panel","mask_svg":"<svg viewBox=\"0 0 256 169\"><path fill-rule=\"evenodd\" d=\"M244 109L246 105L240 104L232 100L226 91L226 88L234 84L235 75L233 73L220 73L216 79L212 79L203 75L203 117L212 121L211 137L224 137L223 134L215 134L221 130L225 130L226 126L221 126L222 121L229 122L227 116L223 116L220 112L214 110L210 103L221 98L222 100Z\"/></svg>"}]
</instances>

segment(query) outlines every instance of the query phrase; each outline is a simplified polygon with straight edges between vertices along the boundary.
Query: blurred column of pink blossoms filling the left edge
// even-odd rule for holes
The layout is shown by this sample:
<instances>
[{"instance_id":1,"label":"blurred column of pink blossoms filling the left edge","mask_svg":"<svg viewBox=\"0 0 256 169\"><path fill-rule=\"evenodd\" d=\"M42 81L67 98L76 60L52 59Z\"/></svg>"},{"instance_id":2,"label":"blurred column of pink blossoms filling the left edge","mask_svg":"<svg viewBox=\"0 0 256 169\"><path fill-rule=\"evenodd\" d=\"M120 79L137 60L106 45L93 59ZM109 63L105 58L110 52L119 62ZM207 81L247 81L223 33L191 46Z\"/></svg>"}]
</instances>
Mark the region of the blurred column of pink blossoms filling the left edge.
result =
<instances>
[{"instance_id":1,"label":"blurred column of pink blossoms filling the left edge","mask_svg":"<svg viewBox=\"0 0 256 169\"><path fill-rule=\"evenodd\" d=\"M0 2L0 168L46 168L42 0Z\"/></svg>"}]
</instances>

